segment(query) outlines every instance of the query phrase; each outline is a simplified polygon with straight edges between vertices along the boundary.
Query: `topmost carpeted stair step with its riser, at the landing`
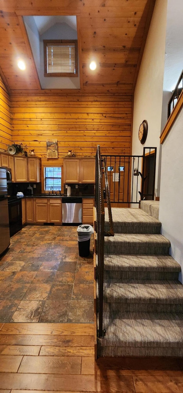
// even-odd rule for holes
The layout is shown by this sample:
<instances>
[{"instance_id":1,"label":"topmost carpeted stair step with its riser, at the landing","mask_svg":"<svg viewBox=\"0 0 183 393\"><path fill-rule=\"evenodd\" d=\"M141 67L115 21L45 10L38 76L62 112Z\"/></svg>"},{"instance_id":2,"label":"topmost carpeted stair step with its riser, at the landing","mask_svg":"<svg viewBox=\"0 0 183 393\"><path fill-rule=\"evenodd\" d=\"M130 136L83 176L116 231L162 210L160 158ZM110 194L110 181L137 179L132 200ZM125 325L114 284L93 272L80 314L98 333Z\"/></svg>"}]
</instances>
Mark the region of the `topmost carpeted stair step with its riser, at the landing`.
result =
<instances>
[{"instance_id":1,"label":"topmost carpeted stair step with its riser, at the landing","mask_svg":"<svg viewBox=\"0 0 183 393\"><path fill-rule=\"evenodd\" d=\"M161 222L141 209L112 208L114 233L160 233ZM105 208L105 231L109 230L108 209Z\"/></svg>"}]
</instances>

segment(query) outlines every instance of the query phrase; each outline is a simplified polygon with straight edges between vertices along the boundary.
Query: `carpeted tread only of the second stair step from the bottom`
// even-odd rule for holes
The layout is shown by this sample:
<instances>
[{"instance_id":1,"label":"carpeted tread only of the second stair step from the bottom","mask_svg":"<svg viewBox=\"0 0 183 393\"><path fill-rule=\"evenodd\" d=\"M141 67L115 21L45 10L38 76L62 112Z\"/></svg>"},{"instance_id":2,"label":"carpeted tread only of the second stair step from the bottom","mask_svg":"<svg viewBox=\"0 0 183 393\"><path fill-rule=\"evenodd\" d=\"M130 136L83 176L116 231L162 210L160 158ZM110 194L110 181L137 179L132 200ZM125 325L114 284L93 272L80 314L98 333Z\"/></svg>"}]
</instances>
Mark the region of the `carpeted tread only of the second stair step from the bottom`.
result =
<instances>
[{"instance_id":1,"label":"carpeted tread only of the second stair step from the bottom","mask_svg":"<svg viewBox=\"0 0 183 393\"><path fill-rule=\"evenodd\" d=\"M179 281L111 280L110 283L104 283L104 301L183 305L183 285Z\"/></svg>"}]
</instances>

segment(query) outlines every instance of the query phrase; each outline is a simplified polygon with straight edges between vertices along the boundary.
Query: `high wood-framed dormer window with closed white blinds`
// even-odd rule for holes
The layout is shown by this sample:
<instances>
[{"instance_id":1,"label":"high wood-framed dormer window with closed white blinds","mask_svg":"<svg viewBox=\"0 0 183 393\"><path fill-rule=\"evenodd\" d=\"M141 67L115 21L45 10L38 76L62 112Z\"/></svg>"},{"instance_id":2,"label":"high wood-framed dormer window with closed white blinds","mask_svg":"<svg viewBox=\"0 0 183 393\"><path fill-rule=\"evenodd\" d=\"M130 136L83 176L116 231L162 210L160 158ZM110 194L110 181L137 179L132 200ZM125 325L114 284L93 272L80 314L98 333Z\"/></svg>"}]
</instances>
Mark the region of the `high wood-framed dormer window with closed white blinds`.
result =
<instances>
[{"instance_id":1,"label":"high wood-framed dormer window with closed white blinds","mask_svg":"<svg viewBox=\"0 0 183 393\"><path fill-rule=\"evenodd\" d=\"M78 76L78 41L43 40L44 76Z\"/></svg>"}]
</instances>

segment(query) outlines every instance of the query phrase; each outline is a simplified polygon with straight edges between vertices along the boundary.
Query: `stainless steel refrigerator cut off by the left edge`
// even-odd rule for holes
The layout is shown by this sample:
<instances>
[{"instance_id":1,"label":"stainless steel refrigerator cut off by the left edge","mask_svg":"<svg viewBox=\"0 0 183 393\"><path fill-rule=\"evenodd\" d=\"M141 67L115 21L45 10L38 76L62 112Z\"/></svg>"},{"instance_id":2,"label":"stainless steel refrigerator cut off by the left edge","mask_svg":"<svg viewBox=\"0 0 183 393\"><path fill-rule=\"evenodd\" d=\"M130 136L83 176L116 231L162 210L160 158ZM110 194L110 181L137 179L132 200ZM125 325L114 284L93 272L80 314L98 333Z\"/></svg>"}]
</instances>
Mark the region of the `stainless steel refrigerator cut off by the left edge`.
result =
<instances>
[{"instance_id":1,"label":"stainless steel refrigerator cut off by the left edge","mask_svg":"<svg viewBox=\"0 0 183 393\"><path fill-rule=\"evenodd\" d=\"M6 169L0 168L0 255L10 245Z\"/></svg>"}]
</instances>

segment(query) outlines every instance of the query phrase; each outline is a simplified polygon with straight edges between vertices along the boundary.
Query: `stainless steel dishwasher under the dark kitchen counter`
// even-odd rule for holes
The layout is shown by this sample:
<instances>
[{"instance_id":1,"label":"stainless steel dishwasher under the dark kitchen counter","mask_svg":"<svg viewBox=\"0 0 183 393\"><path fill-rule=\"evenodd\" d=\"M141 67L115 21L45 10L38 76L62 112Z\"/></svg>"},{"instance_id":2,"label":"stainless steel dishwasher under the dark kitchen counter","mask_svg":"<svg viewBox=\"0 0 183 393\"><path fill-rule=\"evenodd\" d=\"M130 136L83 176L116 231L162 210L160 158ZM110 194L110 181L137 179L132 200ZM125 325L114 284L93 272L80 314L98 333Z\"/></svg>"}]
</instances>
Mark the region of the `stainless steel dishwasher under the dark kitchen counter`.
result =
<instances>
[{"instance_id":1,"label":"stainless steel dishwasher under the dark kitchen counter","mask_svg":"<svg viewBox=\"0 0 183 393\"><path fill-rule=\"evenodd\" d=\"M62 224L73 225L82 223L82 198L68 196L62 198Z\"/></svg>"}]
</instances>

